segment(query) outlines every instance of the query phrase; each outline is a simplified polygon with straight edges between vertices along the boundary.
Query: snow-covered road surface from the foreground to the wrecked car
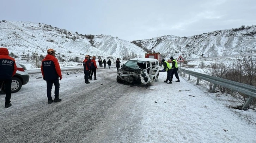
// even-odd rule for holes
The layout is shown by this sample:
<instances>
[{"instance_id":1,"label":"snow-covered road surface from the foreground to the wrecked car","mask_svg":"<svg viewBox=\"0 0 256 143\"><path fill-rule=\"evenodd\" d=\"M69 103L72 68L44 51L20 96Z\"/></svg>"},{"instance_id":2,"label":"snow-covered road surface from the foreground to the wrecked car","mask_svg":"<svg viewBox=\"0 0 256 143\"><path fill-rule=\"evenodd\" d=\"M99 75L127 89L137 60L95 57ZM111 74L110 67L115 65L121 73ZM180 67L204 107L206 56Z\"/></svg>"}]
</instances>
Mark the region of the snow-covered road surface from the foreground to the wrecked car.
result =
<instances>
[{"instance_id":1,"label":"snow-covered road surface from the foreground to the wrecked car","mask_svg":"<svg viewBox=\"0 0 256 143\"><path fill-rule=\"evenodd\" d=\"M146 88L117 83L116 68L99 68L91 84L82 70L62 74L59 103L47 104L41 74L12 94L10 108L0 94L1 143L256 142L254 111L247 121L184 79L166 84L160 73Z\"/></svg>"}]
</instances>

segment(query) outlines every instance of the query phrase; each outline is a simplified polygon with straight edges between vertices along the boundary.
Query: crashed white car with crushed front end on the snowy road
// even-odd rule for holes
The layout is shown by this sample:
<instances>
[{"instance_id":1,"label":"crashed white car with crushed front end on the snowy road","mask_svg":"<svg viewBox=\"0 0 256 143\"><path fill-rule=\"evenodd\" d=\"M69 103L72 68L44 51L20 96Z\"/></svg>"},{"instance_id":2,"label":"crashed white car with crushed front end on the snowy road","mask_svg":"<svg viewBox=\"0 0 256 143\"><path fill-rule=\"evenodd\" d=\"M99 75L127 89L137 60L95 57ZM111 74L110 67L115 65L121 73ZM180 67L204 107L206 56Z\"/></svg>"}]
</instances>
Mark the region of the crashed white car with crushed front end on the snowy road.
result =
<instances>
[{"instance_id":1,"label":"crashed white car with crushed front end on the snowy road","mask_svg":"<svg viewBox=\"0 0 256 143\"><path fill-rule=\"evenodd\" d=\"M127 84L147 84L152 85L158 82L159 61L151 58L135 58L128 60L117 71L117 82Z\"/></svg>"}]
</instances>

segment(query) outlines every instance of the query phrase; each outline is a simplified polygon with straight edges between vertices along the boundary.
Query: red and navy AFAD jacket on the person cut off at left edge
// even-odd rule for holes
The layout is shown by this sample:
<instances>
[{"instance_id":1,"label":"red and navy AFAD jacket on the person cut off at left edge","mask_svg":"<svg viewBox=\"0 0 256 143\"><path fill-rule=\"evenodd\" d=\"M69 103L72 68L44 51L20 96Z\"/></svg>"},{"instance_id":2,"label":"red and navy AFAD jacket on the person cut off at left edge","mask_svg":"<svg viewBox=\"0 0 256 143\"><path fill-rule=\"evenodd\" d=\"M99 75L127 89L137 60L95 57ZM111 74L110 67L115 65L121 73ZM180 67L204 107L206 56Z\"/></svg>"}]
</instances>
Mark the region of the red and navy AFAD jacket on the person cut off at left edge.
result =
<instances>
[{"instance_id":1,"label":"red and navy AFAD jacket on the person cut off at left edge","mask_svg":"<svg viewBox=\"0 0 256 143\"><path fill-rule=\"evenodd\" d=\"M11 80L17 71L15 60L6 48L0 48L0 79Z\"/></svg>"}]
</instances>

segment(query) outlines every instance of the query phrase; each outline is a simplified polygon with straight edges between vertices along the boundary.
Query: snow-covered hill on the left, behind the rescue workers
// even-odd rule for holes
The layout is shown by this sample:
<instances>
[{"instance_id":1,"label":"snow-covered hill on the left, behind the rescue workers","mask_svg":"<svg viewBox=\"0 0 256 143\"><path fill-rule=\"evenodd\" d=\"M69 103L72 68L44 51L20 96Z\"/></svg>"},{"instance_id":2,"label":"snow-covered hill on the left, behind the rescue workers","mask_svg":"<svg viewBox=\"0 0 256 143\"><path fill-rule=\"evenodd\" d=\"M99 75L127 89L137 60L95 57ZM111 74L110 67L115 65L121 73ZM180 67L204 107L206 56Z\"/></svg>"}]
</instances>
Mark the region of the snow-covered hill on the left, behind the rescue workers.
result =
<instances>
[{"instance_id":1,"label":"snow-covered hill on the left, behind the rescue workers","mask_svg":"<svg viewBox=\"0 0 256 143\"><path fill-rule=\"evenodd\" d=\"M0 33L0 46L8 48L12 56L28 68L35 68L32 55L36 53L38 57L44 57L49 48L56 50L61 66L81 64L86 54L103 59L145 55L142 48L126 40L78 34L43 23L3 20L0 21Z\"/></svg>"}]
</instances>

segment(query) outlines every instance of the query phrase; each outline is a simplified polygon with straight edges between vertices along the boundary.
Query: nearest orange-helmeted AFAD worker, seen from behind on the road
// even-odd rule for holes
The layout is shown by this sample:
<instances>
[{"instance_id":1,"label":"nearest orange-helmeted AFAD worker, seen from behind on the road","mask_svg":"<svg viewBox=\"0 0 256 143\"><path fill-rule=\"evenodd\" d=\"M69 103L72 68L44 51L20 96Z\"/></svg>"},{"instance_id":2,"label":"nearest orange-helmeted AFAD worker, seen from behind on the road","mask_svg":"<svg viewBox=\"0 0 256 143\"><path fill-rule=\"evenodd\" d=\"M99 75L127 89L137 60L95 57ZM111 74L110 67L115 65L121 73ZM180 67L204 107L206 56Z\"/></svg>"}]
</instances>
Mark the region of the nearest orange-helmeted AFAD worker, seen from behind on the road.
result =
<instances>
[{"instance_id":1,"label":"nearest orange-helmeted AFAD worker, seen from behind on the road","mask_svg":"<svg viewBox=\"0 0 256 143\"><path fill-rule=\"evenodd\" d=\"M60 64L55 57L55 50L48 49L45 58L42 60L41 71L43 75L43 79L46 81L47 85L47 98L48 104L52 102L60 102L61 99L59 98L59 90L60 90L60 80L62 79ZM55 98L51 97L51 89L53 88L53 84L55 87L54 95Z\"/></svg>"}]
</instances>

